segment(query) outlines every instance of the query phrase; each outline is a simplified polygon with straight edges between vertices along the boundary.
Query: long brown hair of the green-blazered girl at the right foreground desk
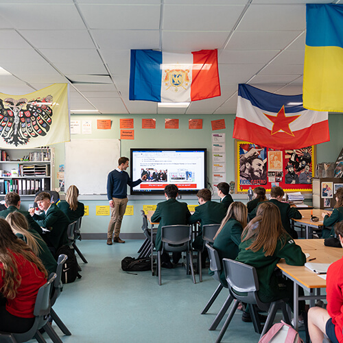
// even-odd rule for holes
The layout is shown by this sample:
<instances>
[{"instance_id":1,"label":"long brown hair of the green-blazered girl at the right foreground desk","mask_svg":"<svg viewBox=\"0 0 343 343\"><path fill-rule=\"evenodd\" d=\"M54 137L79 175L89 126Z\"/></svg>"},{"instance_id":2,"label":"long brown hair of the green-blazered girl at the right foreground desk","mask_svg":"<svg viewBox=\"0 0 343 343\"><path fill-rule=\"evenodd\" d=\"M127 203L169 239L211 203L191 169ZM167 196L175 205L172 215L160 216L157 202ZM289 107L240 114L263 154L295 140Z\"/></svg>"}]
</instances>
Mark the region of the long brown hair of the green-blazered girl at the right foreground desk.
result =
<instances>
[{"instance_id":1,"label":"long brown hair of the green-blazered girl at the right foreground desk","mask_svg":"<svg viewBox=\"0 0 343 343\"><path fill-rule=\"evenodd\" d=\"M243 230L242 241L252 238L252 244L246 250L257 252L263 248L265 256L272 256L279 238L286 235L279 207L268 201L257 208L256 217Z\"/></svg>"}]
</instances>

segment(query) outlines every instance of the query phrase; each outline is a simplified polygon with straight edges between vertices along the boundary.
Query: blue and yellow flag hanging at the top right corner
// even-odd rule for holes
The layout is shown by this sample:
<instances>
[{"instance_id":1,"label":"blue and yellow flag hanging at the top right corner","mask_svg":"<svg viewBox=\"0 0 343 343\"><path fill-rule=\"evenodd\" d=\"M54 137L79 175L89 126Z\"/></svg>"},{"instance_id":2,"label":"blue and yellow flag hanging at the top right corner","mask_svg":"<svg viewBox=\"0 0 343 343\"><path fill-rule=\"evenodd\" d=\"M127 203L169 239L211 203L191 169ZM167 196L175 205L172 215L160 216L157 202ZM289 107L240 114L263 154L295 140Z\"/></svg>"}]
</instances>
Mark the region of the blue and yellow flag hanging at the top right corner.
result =
<instances>
[{"instance_id":1,"label":"blue and yellow flag hanging at the top right corner","mask_svg":"<svg viewBox=\"0 0 343 343\"><path fill-rule=\"evenodd\" d=\"M303 106L343 112L343 5L306 5Z\"/></svg>"}]
</instances>

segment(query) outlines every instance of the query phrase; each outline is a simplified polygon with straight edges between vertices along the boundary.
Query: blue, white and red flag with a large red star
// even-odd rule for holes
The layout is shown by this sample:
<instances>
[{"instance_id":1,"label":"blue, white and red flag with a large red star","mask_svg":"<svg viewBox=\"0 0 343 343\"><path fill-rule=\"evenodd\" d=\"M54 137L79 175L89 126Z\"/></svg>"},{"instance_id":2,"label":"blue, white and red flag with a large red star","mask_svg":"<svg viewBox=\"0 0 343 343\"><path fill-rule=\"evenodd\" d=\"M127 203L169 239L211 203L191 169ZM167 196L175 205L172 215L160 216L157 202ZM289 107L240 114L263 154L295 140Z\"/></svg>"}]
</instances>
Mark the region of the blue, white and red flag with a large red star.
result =
<instances>
[{"instance_id":1,"label":"blue, white and red flag with a large red star","mask_svg":"<svg viewBox=\"0 0 343 343\"><path fill-rule=\"evenodd\" d=\"M330 141L328 113L303 108L303 95L279 95L239 84L233 138L300 149Z\"/></svg>"}]
</instances>

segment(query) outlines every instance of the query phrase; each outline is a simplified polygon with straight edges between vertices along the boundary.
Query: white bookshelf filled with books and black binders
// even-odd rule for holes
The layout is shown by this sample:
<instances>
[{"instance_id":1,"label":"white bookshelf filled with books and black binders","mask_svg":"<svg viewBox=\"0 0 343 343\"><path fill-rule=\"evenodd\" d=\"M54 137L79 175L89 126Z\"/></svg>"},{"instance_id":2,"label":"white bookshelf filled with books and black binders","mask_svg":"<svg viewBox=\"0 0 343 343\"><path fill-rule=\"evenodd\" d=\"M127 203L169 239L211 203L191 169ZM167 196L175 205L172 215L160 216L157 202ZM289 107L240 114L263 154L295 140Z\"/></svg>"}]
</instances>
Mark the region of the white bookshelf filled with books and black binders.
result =
<instances>
[{"instance_id":1,"label":"white bookshelf filled with books and black binders","mask_svg":"<svg viewBox=\"0 0 343 343\"><path fill-rule=\"evenodd\" d=\"M54 189L54 148L1 149L0 199L9 191L34 196Z\"/></svg>"}]
</instances>

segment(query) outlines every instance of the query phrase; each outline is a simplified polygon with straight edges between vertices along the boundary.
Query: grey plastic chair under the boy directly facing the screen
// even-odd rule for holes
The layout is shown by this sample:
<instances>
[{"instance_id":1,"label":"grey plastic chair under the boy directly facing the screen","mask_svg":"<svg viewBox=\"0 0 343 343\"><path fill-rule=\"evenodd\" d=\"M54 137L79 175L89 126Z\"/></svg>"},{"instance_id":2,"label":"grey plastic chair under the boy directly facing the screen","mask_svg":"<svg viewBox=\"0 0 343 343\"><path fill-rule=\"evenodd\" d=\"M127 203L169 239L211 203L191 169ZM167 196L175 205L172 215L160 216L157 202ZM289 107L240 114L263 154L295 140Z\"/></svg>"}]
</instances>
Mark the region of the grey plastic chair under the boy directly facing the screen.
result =
<instances>
[{"instance_id":1,"label":"grey plastic chair under the boy directly facing the screen","mask_svg":"<svg viewBox=\"0 0 343 343\"><path fill-rule=\"evenodd\" d=\"M167 225L161 228L162 250L158 251L158 285L161 285L161 254L163 251L187 252L187 274L188 263L191 265L193 283L196 283L196 276L193 268L193 254L191 249L191 226L189 225Z\"/></svg>"}]
</instances>

